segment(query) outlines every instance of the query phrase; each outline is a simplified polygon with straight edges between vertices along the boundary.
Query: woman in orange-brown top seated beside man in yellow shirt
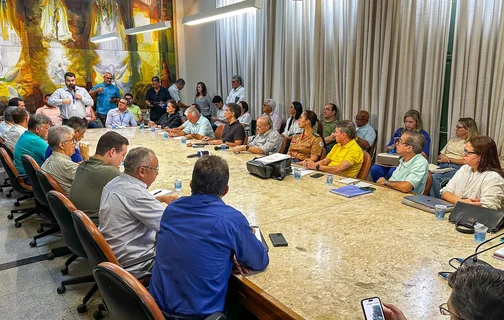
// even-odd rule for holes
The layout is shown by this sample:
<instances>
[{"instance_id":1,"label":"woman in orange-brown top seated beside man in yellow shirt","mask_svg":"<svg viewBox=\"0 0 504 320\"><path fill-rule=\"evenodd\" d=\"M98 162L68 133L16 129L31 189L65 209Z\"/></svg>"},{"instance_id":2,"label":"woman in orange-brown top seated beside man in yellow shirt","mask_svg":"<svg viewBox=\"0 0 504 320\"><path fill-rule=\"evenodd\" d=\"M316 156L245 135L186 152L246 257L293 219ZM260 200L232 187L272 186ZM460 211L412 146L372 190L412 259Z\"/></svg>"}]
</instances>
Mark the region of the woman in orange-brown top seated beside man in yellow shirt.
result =
<instances>
[{"instance_id":1,"label":"woman in orange-brown top seated beside man in yellow shirt","mask_svg":"<svg viewBox=\"0 0 504 320\"><path fill-rule=\"evenodd\" d=\"M288 155L300 161L311 159L318 161L322 155L324 139L322 139L323 128L318 126L318 132L313 131L313 127L318 123L317 114L311 110L306 110L299 117L299 128L303 130L292 138Z\"/></svg>"}]
</instances>

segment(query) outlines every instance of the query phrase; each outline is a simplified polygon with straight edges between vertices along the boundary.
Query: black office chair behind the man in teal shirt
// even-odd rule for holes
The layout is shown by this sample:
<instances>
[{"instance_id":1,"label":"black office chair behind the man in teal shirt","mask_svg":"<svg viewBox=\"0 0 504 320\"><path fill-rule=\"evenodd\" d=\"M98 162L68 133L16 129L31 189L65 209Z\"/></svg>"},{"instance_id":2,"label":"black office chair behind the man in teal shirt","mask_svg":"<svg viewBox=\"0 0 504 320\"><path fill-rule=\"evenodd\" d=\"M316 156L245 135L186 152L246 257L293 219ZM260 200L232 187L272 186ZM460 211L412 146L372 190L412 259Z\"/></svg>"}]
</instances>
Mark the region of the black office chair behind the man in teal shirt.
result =
<instances>
[{"instance_id":1,"label":"black office chair behind the man in teal shirt","mask_svg":"<svg viewBox=\"0 0 504 320\"><path fill-rule=\"evenodd\" d=\"M45 192L40 187L40 183L37 177L37 170L40 170L38 163L29 155L25 154L21 157L21 163L25 169L28 178L30 178L31 186L33 189L33 195L35 196L35 206L40 210L40 212L48 218L48 221L40 223L40 228L37 229L39 233L33 237L33 241L30 242L30 246L35 247L37 245L37 239L48 236L50 234L60 231L60 227L54 218L51 209L48 206L47 198ZM45 230L44 228L50 228Z\"/></svg>"}]
</instances>

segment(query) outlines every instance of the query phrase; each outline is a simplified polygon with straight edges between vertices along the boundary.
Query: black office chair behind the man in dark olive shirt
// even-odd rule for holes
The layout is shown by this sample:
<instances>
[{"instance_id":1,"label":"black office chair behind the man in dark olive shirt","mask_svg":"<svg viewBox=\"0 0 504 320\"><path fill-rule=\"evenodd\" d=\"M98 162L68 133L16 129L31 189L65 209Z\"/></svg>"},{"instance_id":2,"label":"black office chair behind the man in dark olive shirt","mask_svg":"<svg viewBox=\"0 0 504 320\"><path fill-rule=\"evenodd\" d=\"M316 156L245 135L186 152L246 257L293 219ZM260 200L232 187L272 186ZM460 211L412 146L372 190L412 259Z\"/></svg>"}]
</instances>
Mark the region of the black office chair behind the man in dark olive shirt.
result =
<instances>
[{"instance_id":1,"label":"black office chair behind the man in dark olive shirt","mask_svg":"<svg viewBox=\"0 0 504 320\"><path fill-rule=\"evenodd\" d=\"M86 251L80 243L80 239L77 236L75 227L72 220L72 212L76 211L77 208L74 206L72 201L65 197L62 193L51 190L47 194L47 201L49 202L49 207L58 221L61 228L61 233L63 234L63 239L68 248L70 248L72 256L65 261L65 266L61 269L62 274L68 274L68 266L75 261L78 257L86 258ZM81 284L94 282L92 275L87 275L83 277L77 277L69 280L61 281L61 285L58 287L57 292L63 294L66 291L67 285Z\"/></svg>"}]
</instances>

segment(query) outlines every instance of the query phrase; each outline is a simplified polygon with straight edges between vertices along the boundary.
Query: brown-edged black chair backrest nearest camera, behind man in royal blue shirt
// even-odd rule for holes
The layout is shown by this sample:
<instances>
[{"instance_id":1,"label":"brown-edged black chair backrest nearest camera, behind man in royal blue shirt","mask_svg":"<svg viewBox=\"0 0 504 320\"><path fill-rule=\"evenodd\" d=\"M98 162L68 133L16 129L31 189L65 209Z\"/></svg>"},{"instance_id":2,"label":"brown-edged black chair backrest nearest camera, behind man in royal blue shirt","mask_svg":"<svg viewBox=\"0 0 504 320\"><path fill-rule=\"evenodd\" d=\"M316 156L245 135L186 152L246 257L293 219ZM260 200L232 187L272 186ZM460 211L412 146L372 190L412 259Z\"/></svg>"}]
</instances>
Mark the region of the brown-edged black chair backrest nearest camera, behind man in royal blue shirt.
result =
<instances>
[{"instance_id":1,"label":"brown-edged black chair backrest nearest camera, behind man in royal blue shirt","mask_svg":"<svg viewBox=\"0 0 504 320\"><path fill-rule=\"evenodd\" d=\"M111 319L165 319L149 291L120 266L102 262L93 275Z\"/></svg>"}]
</instances>

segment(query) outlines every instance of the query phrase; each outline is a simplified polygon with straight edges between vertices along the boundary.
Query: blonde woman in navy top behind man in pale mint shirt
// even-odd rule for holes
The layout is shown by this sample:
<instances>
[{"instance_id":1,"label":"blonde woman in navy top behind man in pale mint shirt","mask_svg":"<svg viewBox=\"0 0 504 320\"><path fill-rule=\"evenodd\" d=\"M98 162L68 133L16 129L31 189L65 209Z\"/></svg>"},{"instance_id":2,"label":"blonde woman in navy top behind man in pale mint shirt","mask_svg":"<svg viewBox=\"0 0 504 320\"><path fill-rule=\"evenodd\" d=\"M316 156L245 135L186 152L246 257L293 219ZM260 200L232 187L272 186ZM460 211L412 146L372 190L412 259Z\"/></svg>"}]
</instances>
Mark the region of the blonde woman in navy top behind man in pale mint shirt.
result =
<instances>
[{"instance_id":1,"label":"blonde woman in navy top behind man in pale mint shirt","mask_svg":"<svg viewBox=\"0 0 504 320\"><path fill-rule=\"evenodd\" d=\"M404 131L407 130L420 132L425 137L425 145L422 152L425 154L426 157L429 157L430 136L427 133L427 131L422 129L422 117L420 116L420 113L416 110L409 110L404 114L404 127L399 128L394 132L394 135L390 139L390 142L387 144L387 152L396 153L395 147L397 141L399 141ZM391 168L391 167L384 167L379 164L374 164L371 167L371 178L373 179L373 182L376 182L381 177L384 177L385 179L388 180L392 176L394 170L395 167Z\"/></svg>"}]
</instances>

